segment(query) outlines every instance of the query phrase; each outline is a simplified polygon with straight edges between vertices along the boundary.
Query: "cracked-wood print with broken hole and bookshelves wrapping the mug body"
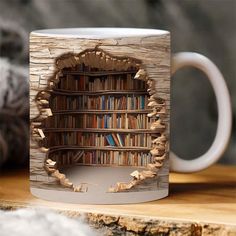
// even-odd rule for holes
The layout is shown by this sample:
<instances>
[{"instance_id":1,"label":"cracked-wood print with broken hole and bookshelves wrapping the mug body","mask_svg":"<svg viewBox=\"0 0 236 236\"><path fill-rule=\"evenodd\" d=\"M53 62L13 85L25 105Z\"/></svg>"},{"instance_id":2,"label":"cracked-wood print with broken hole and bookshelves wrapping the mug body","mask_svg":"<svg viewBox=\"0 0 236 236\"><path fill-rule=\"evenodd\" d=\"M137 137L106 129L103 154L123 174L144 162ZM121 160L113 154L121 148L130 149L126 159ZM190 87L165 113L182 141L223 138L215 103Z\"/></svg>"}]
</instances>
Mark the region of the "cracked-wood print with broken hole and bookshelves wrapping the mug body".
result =
<instances>
[{"instance_id":1,"label":"cracked-wood print with broken hole and bookshelves wrapping the mug body","mask_svg":"<svg viewBox=\"0 0 236 236\"><path fill-rule=\"evenodd\" d=\"M145 52L117 43L38 40L31 36L31 188L86 199L164 191L169 77L157 63L162 55L152 64Z\"/></svg>"}]
</instances>

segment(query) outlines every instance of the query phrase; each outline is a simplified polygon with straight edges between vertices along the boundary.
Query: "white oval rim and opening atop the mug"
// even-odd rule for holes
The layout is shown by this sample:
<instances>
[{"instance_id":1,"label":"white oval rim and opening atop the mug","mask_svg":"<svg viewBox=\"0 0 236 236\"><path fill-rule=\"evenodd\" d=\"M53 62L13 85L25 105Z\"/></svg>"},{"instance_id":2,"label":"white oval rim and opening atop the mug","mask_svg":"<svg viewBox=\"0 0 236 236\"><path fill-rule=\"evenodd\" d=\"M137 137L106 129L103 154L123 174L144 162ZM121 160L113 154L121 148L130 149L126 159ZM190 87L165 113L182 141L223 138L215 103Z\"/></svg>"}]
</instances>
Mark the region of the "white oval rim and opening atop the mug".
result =
<instances>
[{"instance_id":1,"label":"white oval rim and opening atop the mug","mask_svg":"<svg viewBox=\"0 0 236 236\"><path fill-rule=\"evenodd\" d=\"M54 28L34 30L31 32L33 35L86 39L162 36L168 35L169 33L169 31L160 29L123 27Z\"/></svg>"}]
</instances>

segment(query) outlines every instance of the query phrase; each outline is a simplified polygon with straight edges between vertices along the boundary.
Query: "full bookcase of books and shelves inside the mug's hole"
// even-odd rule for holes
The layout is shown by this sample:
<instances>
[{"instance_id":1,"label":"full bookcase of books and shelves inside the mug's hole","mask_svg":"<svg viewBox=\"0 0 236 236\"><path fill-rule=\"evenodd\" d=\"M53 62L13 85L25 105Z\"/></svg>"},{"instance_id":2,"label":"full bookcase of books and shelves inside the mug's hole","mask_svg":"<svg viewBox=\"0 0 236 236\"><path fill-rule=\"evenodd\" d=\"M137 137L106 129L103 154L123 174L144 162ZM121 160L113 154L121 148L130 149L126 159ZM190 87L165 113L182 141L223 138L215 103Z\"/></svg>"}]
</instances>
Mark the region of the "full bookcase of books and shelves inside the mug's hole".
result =
<instances>
[{"instance_id":1,"label":"full bookcase of books and shelves inside the mug's hole","mask_svg":"<svg viewBox=\"0 0 236 236\"><path fill-rule=\"evenodd\" d=\"M50 91L52 116L42 122L48 158L60 166L137 166L153 163L154 118L138 68L102 70L78 64L61 70ZM160 128L161 131L161 128Z\"/></svg>"}]
</instances>

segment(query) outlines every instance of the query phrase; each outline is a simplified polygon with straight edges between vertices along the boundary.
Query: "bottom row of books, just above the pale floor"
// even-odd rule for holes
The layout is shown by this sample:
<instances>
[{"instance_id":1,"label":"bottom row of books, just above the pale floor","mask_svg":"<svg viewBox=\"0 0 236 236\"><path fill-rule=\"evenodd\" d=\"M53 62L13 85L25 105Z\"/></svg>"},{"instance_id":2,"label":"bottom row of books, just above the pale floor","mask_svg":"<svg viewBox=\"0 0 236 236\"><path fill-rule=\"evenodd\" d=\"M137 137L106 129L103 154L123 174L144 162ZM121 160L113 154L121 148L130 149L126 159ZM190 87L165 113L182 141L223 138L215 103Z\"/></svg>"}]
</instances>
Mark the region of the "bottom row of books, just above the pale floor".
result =
<instances>
[{"instance_id":1,"label":"bottom row of books, just above the pale floor","mask_svg":"<svg viewBox=\"0 0 236 236\"><path fill-rule=\"evenodd\" d=\"M66 165L115 165L146 166L153 162L149 152L131 151L59 151L50 154L59 166Z\"/></svg>"}]
</instances>

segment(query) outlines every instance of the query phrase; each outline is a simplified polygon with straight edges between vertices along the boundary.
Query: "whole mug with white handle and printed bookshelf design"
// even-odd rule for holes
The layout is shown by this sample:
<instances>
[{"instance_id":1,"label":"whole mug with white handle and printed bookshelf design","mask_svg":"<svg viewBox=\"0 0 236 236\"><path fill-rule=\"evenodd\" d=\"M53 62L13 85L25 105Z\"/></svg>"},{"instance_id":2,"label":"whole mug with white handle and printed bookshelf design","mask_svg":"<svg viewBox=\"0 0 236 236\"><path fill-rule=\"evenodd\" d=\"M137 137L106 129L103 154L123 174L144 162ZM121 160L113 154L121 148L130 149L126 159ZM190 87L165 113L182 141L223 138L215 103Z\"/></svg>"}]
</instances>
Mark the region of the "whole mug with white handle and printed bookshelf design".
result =
<instances>
[{"instance_id":1,"label":"whole mug with white handle and printed bookshelf design","mask_svg":"<svg viewBox=\"0 0 236 236\"><path fill-rule=\"evenodd\" d=\"M117 204L168 195L169 169L199 171L223 154L230 96L218 68L191 52L170 57L170 33L76 28L30 36L31 192L53 201ZM169 158L170 75L203 71L217 99L210 149ZM170 165L169 165L170 164Z\"/></svg>"}]
</instances>

